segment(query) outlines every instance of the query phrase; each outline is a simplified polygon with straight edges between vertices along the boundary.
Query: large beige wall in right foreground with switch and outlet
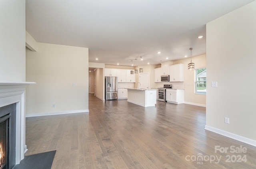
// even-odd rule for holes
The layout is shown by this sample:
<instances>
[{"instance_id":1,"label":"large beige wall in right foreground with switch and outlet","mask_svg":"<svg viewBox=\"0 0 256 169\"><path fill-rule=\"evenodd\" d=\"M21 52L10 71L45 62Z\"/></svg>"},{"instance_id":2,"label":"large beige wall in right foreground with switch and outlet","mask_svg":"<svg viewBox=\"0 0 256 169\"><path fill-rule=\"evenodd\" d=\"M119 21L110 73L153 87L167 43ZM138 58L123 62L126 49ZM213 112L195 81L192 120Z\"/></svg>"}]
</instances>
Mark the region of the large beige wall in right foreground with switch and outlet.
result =
<instances>
[{"instance_id":1,"label":"large beige wall in right foreground with switch and outlet","mask_svg":"<svg viewBox=\"0 0 256 169\"><path fill-rule=\"evenodd\" d=\"M249 138L256 146L255 9L256 1L206 25L206 127Z\"/></svg>"}]
</instances>

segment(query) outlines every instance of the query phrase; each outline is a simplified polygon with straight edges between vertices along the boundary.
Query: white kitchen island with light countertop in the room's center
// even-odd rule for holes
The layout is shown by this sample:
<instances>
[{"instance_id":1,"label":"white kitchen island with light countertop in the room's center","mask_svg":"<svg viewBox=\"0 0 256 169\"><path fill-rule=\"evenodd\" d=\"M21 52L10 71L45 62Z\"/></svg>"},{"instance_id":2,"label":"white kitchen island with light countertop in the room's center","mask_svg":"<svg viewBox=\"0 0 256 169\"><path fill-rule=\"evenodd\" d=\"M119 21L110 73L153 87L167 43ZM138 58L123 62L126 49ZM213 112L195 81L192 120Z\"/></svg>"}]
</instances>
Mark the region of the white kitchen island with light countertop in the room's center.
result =
<instances>
[{"instance_id":1,"label":"white kitchen island with light countertop in the room's center","mask_svg":"<svg viewBox=\"0 0 256 169\"><path fill-rule=\"evenodd\" d=\"M156 104L157 89L136 89L127 88L128 102L138 104L140 106L149 107Z\"/></svg>"}]
</instances>

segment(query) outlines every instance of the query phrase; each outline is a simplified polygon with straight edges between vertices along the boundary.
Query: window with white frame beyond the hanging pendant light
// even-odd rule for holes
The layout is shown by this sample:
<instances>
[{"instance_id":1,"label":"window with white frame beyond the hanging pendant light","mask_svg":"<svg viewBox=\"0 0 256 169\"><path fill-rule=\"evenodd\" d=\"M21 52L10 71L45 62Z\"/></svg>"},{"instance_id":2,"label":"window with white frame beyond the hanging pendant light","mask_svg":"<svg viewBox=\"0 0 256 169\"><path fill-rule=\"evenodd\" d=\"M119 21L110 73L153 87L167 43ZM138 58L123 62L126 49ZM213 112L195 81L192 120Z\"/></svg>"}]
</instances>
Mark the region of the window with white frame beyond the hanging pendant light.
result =
<instances>
[{"instance_id":1,"label":"window with white frame beyond the hanging pendant light","mask_svg":"<svg viewBox=\"0 0 256 169\"><path fill-rule=\"evenodd\" d=\"M206 94L206 68L195 69L195 93Z\"/></svg>"}]
</instances>

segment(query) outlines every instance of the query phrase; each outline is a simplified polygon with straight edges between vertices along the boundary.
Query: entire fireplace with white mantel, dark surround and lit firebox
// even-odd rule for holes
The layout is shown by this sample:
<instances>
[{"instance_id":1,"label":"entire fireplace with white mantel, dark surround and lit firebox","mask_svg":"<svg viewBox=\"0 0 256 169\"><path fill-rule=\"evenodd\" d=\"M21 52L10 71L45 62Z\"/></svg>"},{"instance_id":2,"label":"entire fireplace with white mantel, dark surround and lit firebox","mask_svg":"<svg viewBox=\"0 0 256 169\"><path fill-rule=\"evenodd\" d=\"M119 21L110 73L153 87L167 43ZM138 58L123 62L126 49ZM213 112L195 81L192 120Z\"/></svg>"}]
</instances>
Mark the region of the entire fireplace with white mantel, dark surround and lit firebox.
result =
<instances>
[{"instance_id":1,"label":"entire fireplace with white mantel, dark surround and lit firebox","mask_svg":"<svg viewBox=\"0 0 256 169\"><path fill-rule=\"evenodd\" d=\"M24 103L26 86L30 84L35 83L0 81L0 169L12 169L27 151Z\"/></svg>"}]
</instances>

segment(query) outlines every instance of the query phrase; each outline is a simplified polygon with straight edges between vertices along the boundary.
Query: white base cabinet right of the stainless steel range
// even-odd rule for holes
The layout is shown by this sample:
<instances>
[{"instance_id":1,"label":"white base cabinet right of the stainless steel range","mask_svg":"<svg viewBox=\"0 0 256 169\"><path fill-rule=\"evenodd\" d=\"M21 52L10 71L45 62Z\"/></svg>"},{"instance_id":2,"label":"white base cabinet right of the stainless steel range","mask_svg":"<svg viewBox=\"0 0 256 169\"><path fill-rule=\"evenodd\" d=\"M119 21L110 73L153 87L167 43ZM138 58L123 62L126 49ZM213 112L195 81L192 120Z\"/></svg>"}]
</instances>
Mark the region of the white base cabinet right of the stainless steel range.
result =
<instances>
[{"instance_id":1,"label":"white base cabinet right of the stainless steel range","mask_svg":"<svg viewBox=\"0 0 256 169\"><path fill-rule=\"evenodd\" d=\"M166 101L171 103L184 103L184 90L166 89Z\"/></svg>"}]
</instances>

